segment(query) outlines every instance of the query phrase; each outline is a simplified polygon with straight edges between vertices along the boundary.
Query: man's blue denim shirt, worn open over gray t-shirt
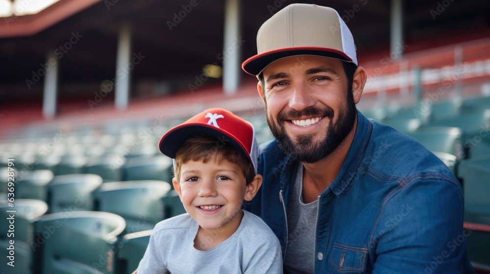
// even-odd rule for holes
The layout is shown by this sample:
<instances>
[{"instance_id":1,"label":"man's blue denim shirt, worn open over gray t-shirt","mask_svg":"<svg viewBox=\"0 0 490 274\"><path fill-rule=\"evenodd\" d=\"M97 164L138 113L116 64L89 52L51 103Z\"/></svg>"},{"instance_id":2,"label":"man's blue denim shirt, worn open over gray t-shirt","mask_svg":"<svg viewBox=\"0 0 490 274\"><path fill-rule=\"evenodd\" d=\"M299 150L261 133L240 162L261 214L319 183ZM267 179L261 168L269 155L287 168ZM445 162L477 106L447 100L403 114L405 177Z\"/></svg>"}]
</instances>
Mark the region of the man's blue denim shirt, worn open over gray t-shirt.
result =
<instances>
[{"instance_id":1,"label":"man's blue denim shirt, worn open over gray t-shirt","mask_svg":"<svg viewBox=\"0 0 490 274\"><path fill-rule=\"evenodd\" d=\"M263 144L264 181L245 206L272 228L283 255L295 240L286 208L297 167L275 140ZM360 112L341 171L318 200L315 273L474 273L460 183L415 139Z\"/></svg>"}]
</instances>

